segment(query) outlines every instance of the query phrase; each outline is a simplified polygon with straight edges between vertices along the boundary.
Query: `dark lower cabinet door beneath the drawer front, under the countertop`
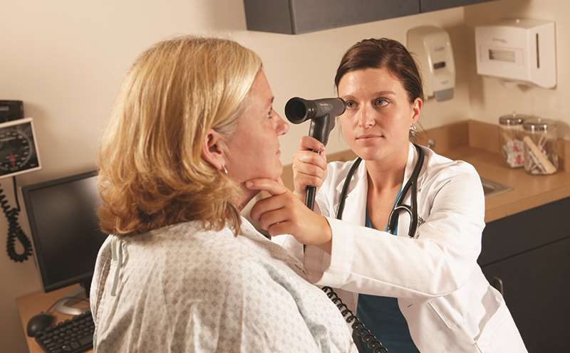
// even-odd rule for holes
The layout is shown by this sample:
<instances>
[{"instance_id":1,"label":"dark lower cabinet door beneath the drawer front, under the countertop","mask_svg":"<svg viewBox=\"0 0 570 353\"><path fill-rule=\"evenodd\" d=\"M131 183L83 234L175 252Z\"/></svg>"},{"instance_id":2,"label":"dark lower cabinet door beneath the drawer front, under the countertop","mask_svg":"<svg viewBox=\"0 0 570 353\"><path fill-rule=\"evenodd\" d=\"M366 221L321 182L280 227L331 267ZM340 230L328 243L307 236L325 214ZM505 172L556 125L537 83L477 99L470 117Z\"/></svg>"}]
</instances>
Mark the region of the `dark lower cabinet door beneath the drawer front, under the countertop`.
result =
<instances>
[{"instance_id":1,"label":"dark lower cabinet door beneath the drawer front, under the countertop","mask_svg":"<svg viewBox=\"0 0 570 353\"><path fill-rule=\"evenodd\" d=\"M537 234L539 236L539 234ZM570 352L570 238L482 268L533 352Z\"/></svg>"}]
</instances>

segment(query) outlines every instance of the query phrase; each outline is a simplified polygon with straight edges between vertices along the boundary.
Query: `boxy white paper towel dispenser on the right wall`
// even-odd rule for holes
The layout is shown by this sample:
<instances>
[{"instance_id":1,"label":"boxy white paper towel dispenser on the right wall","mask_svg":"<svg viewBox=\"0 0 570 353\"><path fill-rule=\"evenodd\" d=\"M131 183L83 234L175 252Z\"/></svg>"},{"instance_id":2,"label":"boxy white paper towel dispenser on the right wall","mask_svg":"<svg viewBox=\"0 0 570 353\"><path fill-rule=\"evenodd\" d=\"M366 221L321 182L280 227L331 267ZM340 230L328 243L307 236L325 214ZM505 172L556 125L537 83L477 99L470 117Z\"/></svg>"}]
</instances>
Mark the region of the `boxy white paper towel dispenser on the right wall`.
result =
<instances>
[{"instance_id":1,"label":"boxy white paper towel dispenser on the right wall","mask_svg":"<svg viewBox=\"0 0 570 353\"><path fill-rule=\"evenodd\" d=\"M554 22L502 20L475 27L477 73L543 88L556 86Z\"/></svg>"}]
</instances>

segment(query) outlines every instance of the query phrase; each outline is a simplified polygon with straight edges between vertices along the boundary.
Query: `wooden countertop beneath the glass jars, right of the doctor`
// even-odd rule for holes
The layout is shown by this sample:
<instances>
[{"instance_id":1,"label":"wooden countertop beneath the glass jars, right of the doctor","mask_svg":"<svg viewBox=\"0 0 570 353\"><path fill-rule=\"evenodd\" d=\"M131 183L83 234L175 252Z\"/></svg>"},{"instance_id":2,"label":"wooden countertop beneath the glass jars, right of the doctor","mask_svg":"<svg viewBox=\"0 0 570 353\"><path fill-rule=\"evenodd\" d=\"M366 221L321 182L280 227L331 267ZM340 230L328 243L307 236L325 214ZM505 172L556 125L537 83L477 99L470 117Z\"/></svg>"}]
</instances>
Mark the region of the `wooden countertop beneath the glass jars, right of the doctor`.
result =
<instances>
[{"instance_id":1,"label":"wooden countertop beneath the glass jars, right of the doctor","mask_svg":"<svg viewBox=\"0 0 570 353\"><path fill-rule=\"evenodd\" d=\"M440 153L472 164L480 177L512 187L510 191L485 197L485 222L517 214L570 196L570 173L531 175L523 168L512 169L499 154L476 147L457 147Z\"/></svg>"}]
</instances>

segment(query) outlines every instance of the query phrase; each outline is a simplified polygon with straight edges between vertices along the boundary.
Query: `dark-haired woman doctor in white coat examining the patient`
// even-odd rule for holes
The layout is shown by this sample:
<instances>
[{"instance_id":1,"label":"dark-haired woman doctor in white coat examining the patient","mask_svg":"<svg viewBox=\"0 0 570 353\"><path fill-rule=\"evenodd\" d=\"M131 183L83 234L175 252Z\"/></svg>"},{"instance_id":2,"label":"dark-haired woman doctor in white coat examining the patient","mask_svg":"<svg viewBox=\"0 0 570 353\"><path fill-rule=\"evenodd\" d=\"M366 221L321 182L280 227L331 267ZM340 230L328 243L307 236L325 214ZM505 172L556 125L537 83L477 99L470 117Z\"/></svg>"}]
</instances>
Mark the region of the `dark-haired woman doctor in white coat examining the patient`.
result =
<instances>
[{"instance_id":1,"label":"dark-haired woman doctor in white coat examining the patient","mask_svg":"<svg viewBox=\"0 0 570 353\"><path fill-rule=\"evenodd\" d=\"M271 236L291 234L277 238L304 260L309 280L337 288L390 352L527 352L477 265L480 177L409 141L423 104L410 53L386 38L358 42L335 85L346 102L343 136L358 159L327 165L321 142L303 137L294 194L268 179L247 183L272 195L252 218ZM302 201L308 185L318 187L315 212Z\"/></svg>"}]
</instances>

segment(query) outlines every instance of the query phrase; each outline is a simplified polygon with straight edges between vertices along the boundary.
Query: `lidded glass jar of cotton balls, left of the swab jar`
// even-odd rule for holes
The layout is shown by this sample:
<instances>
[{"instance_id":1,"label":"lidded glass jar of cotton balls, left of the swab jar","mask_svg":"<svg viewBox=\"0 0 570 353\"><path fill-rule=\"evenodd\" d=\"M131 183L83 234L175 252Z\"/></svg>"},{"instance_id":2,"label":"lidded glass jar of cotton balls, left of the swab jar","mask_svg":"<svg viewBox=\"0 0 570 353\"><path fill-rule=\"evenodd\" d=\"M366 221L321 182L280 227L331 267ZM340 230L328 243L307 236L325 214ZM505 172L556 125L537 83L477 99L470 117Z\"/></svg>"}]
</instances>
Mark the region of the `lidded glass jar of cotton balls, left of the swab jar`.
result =
<instances>
[{"instance_id":1,"label":"lidded glass jar of cotton balls, left of the swab jar","mask_svg":"<svg viewBox=\"0 0 570 353\"><path fill-rule=\"evenodd\" d=\"M499 117L501 153L504 163L511 168L524 166L522 123L532 118L534 116L517 114L516 112Z\"/></svg>"}]
</instances>

